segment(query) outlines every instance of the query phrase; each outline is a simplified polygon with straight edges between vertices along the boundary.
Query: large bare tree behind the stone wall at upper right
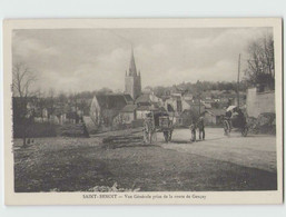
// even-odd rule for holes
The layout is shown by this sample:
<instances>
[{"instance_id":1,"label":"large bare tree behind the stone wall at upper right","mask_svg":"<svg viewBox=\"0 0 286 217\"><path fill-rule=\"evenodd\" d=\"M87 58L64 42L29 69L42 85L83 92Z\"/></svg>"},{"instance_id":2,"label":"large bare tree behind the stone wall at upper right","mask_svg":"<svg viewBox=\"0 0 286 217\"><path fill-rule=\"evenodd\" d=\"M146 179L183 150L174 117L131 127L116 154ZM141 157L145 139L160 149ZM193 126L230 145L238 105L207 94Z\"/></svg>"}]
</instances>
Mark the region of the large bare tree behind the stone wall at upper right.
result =
<instances>
[{"instance_id":1,"label":"large bare tree behind the stone wall at upper right","mask_svg":"<svg viewBox=\"0 0 286 217\"><path fill-rule=\"evenodd\" d=\"M274 40L272 34L264 34L248 46L249 59L245 71L247 81L262 89L274 89L275 85L275 60Z\"/></svg>"}]
</instances>

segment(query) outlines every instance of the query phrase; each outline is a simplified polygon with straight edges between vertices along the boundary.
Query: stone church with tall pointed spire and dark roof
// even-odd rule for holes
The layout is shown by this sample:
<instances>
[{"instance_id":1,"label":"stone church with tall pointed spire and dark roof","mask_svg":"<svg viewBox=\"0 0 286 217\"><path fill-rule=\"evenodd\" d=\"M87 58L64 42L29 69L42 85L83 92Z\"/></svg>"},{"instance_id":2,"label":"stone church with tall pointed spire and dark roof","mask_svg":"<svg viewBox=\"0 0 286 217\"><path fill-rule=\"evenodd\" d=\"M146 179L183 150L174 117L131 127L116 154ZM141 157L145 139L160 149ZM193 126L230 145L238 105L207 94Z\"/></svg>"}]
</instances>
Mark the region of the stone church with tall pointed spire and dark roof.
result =
<instances>
[{"instance_id":1,"label":"stone church with tall pointed spire and dark roof","mask_svg":"<svg viewBox=\"0 0 286 217\"><path fill-rule=\"evenodd\" d=\"M137 71L134 49L131 49L129 69L125 75L125 92L96 95L90 106L90 118L101 128L134 126L136 122L142 125L138 121L145 119L150 110L159 110L161 105L161 99L152 92L142 92L141 75Z\"/></svg>"}]
</instances>

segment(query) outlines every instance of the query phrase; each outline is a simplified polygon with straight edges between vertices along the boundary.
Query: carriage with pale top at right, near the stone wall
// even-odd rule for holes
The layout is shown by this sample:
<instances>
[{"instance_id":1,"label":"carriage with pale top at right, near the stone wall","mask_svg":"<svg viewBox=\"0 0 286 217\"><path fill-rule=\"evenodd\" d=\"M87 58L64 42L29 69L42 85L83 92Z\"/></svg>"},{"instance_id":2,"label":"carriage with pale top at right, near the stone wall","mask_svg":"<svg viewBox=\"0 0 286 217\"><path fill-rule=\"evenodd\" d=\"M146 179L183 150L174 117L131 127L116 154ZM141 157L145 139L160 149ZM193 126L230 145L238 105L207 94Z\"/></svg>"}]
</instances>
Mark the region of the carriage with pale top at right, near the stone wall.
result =
<instances>
[{"instance_id":1,"label":"carriage with pale top at right, near the stone wall","mask_svg":"<svg viewBox=\"0 0 286 217\"><path fill-rule=\"evenodd\" d=\"M248 134L248 126L245 115L238 107L230 106L227 108L226 116L224 117L225 135L228 136L234 128L239 129L244 137L246 137Z\"/></svg>"}]
</instances>

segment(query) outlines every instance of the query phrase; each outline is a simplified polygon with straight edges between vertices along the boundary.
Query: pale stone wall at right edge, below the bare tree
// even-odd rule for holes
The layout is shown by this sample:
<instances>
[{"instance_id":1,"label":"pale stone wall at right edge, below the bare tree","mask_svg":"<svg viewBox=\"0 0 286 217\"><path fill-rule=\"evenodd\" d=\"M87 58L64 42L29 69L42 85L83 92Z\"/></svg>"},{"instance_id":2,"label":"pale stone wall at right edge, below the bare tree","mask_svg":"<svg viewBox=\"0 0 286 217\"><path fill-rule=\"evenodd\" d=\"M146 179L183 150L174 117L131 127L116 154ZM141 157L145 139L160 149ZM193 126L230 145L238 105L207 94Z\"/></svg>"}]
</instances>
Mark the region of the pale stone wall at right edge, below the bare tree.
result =
<instances>
[{"instance_id":1,"label":"pale stone wall at right edge, below the bare tree","mask_svg":"<svg viewBox=\"0 0 286 217\"><path fill-rule=\"evenodd\" d=\"M263 112L275 112L275 91L257 92L256 88L248 89L246 111L255 118Z\"/></svg>"}]
</instances>

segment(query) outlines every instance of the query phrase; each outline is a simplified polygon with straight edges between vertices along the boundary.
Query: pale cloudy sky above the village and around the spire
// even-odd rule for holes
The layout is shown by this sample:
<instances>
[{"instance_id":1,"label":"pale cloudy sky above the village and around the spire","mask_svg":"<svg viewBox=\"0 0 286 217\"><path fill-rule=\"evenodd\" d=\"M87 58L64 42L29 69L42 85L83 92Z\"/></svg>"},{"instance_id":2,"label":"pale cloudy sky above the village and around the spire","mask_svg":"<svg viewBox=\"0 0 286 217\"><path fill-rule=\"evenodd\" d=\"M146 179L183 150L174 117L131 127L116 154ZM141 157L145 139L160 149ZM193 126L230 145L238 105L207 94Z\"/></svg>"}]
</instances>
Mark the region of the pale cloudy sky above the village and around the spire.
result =
<instances>
[{"instance_id":1,"label":"pale cloudy sky above the village and around the spire","mask_svg":"<svg viewBox=\"0 0 286 217\"><path fill-rule=\"evenodd\" d=\"M180 82L234 81L249 41L270 28L14 30L13 63L37 76L34 88L124 91L131 43L142 88Z\"/></svg>"}]
</instances>

